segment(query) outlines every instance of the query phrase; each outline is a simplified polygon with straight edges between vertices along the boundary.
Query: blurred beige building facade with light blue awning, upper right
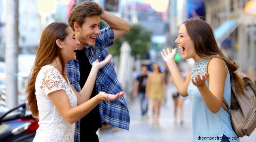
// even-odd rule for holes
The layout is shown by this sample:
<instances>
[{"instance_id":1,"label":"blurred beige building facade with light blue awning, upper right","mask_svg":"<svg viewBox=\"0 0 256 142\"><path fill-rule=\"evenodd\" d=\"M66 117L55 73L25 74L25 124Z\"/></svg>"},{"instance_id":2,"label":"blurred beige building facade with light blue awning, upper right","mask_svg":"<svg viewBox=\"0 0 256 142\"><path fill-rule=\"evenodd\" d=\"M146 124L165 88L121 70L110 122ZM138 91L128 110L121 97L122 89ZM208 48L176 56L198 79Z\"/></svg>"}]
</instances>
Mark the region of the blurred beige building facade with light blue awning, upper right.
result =
<instances>
[{"instance_id":1,"label":"blurred beige building facade with light blue awning, upper right","mask_svg":"<svg viewBox=\"0 0 256 142\"><path fill-rule=\"evenodd\" d=\"M253 0L205 0L205 5L206 21L219 36L220 48L239 64L239 71L253 77L256 70L256 16L247 12L247 8L256 11L256 7L248 7L253 5L250 2Z\"/></svg>"}]
</instances>

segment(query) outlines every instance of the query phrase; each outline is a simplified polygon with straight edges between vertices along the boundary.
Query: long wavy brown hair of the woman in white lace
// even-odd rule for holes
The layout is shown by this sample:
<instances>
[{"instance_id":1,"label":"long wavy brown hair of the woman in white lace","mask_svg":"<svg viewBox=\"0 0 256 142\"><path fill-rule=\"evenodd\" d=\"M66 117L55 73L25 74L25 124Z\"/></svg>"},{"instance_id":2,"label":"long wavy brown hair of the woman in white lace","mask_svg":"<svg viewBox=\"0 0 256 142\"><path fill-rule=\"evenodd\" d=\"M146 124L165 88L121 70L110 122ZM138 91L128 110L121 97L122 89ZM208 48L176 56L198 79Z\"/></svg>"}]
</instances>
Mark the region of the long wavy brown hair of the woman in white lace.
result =
<instances>
[{"instance_id":1,"label":"long wavy brown hair of the woman in white lace","mask_svg":"<svg viewBox=\"0 0 256 142\"><path fill-rule=\"evenodd\" d=\"M65 40L66 36L68 35L68 32L66 31L66 28L68 27L68 24L64 22L53 22L47 25L41 35L34 67L32 68L32 74L30 76L30 80L28 81L28 86L25 92L28 94L26 98L26 100L28 101L27 105L30 107L30 111L32 112L33 116L38 116L35 82L36 76L41 68L45 65L50 64L56 57L59 57L62 65L61 74L66 79L66 76L64 75L65 62L60 53L60 48L56 44L56 40Z\"/></svg>"}]
</instances>

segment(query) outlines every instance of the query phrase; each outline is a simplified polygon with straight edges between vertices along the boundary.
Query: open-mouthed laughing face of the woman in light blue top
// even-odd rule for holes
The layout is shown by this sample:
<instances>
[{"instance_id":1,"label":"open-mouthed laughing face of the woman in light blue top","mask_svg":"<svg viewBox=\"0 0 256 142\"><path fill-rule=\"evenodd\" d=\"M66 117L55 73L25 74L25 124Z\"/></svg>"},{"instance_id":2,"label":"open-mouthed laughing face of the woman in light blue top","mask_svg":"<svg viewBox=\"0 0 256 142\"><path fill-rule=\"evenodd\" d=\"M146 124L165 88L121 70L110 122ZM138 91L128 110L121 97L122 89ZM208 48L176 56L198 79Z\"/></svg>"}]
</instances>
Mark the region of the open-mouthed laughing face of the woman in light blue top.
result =
<instances>
[{"instance_id":1,"label":"open-mouthed laughing face of the woman in light blue top","mask_svg":"<svg viewBox=\"0 0 256 142\"><path fill-rule=\"evenodd\" d=\"M196 54L194 43L188 35L187 28L184 24L179 28L179 36L175 40L175 43L182 48L182 55L184 59L193 58L195 61L200 61L201 57Z\"/></svg>"}]
</instances>

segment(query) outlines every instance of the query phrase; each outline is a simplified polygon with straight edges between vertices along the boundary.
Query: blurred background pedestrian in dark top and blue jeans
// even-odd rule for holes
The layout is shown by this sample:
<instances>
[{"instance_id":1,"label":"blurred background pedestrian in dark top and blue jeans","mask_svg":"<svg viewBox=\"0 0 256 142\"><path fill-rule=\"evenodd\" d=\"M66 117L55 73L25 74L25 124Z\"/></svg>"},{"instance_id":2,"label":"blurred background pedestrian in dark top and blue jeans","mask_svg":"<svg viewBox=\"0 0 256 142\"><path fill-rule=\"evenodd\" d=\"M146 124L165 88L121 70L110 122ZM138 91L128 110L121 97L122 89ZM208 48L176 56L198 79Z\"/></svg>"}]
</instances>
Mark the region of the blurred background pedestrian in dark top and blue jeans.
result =
<instances>
[{"instance_id":1,"label":"blurred background pedestrian in dark top and blue jeans","mask_svg":"<svg viewBox=\"0 0 256 142\"><path fill-rule=\"evenodd\" d=\"M141 67L141 75L137 77L134 83L134 95L139 95L142 118L147 117L148 99L145 97L145 88L147 83L147 66Z\"/></svg>"}]
</instances>

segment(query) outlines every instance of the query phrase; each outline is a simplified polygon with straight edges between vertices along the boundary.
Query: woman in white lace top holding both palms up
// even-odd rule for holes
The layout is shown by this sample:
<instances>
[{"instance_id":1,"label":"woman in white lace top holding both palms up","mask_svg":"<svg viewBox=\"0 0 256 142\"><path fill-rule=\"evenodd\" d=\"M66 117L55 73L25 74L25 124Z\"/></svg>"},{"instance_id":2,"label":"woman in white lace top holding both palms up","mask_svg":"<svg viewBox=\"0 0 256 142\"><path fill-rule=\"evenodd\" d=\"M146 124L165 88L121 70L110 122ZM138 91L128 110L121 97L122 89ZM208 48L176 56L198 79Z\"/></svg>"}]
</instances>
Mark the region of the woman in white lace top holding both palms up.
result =
<instances>
[{"instance_id":1,"label":"woman in white lace top holding both palms up","mask_svg":"<svg viewBox=\"0 0 256 142\"><path fill-rule=\"evenodd\" d=\"M75 122L90 112L100 101L113 101L124 95L100 92L89 100L97 72L111 59L94 61L89 77L78 93L70 85L66 61L76 59L74 50L80 42L64 22L49 24L41 35L35 65L26 93L28 106L39 118L34 142L73 142Z\"/></svg>"}]
</instances>

